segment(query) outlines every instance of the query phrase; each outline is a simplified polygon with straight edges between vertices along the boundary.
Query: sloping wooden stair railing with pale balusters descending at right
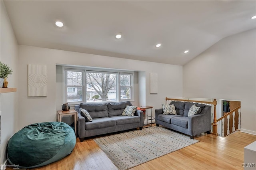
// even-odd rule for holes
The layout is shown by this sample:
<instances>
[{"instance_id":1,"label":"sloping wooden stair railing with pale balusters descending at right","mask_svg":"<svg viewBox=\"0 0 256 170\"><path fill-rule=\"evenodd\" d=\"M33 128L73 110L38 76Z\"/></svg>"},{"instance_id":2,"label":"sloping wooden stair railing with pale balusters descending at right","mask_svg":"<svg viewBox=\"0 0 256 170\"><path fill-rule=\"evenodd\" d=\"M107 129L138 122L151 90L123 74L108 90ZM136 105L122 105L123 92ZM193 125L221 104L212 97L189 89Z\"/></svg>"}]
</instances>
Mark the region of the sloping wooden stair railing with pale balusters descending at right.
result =
<instances>
[{"instance_id":1,"label":"sloping wooden stair railing with pale balusters descending at right","mask_svg":"<svg viewBox=\"0 0 256 170\"><path fill-rule=\"evenodd\" d=\"M240 108L241 108L241 106L238 106L235 109L233 109L232 111L228 112L226 115L224 115L224 116L220 117L218 120L216 120L216 123L219 122L219 121L222 121L222 135L221 136L225 136L224 135L224 118L227 118L227 120L228 120L228 123L227 123L227 135L230 134L230 130L229 130L229 126L230 126L229 123L230 122L229 122L229 119L230 119L230 115L231 114L233 116L232 132L234 132L236 130L235 129L235 113L236 113L236 111L238 111L238 129L241 128L241 123L240 123L240 121L241 121L241 118L240 118L241 112L240 112ZM212 123L212 125L213 125L213 123Z\"/></svg>"}]
</instances>

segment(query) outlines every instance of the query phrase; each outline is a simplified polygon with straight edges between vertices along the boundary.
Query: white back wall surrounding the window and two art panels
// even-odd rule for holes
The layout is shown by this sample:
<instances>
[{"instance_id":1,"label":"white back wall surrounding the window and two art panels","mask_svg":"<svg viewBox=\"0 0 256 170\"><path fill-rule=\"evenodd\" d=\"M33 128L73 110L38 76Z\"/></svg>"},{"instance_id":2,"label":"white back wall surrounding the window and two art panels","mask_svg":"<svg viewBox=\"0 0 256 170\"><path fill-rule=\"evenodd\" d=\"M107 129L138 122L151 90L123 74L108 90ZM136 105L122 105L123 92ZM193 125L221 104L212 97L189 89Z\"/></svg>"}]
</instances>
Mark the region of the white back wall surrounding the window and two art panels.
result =
<instances>
[{"instance_id":1,"label":"white back wall surrounding the window and two art panels","mask_svg":"<svg viewBox=\"0 0 256 170\"><path fill-rule=\"evenodd\" d=\"M152 105L154 109L161 108L165 97L182 96L182 66L122 59L76 53L56 49L47 49L18 45L19 76L18 81L18 128L37 122L56 121L56 110L61 110L60 79L56 79L56 64L70 64L88 67L104 67L114 69L136 70L138 73L138 89L145 89L145 93L138 92L135 105ZM47 65L47 97L28 97L28 64ZM145 83L140 81L140 72L145 72ZM158 73L158 94L150 94L149 75ZM57 74L60 74L57 70ZM57 81L57 83L56 83ZM144 87L143 87L144 86ZM57 88L57 90L56 90ZM141 96L140 94L144 94ZM145 101L140 104L139 101ZM153 109L153 110L154 110ZM153 113L154 114L154 113Z\"/></svg>"}]
</instances>

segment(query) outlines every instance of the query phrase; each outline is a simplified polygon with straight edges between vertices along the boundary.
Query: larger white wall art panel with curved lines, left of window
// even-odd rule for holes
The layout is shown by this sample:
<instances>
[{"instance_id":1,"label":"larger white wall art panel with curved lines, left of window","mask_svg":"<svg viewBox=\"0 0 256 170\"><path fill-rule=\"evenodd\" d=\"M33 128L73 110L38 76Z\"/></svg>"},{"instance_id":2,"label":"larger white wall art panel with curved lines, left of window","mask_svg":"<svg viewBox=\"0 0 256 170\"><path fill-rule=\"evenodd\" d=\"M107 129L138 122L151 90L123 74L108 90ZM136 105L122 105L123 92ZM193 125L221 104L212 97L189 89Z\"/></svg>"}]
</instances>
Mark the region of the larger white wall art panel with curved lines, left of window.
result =
<instances>
[{"instance_id":1,"label":"larger white wall art panel with curved lines, left of window","mask_svg":"<svg viewBox=\"0 0 256 170\"><path fill-rule=\"evenodd\" d=\"M47 66L28 64L28 97L46 96Z\"/></svg>"}]
</instances>

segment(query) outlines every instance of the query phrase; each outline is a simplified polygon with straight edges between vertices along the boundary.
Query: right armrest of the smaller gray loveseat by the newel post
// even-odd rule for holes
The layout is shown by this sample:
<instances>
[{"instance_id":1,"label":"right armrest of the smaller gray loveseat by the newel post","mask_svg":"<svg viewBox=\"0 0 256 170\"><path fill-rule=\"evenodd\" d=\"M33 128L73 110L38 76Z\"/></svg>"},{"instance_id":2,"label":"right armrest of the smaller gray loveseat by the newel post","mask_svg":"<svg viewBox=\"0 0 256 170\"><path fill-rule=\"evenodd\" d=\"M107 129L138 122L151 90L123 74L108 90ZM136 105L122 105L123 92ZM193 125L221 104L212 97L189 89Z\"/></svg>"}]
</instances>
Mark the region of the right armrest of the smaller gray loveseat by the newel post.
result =
<instances>
[{"instance_id":1,"label":"right armrest of the smaller gray loveseat by the newel post","mask_svg":"<svg viewBox=\"0 0 256 170\"><path fill-rule=\"evenodd\" d=\"M188 117L188 134L194 136L210 131L212 128L211 121L211 106L206 106L199 115Z\"/></svg>"}]
</instances>

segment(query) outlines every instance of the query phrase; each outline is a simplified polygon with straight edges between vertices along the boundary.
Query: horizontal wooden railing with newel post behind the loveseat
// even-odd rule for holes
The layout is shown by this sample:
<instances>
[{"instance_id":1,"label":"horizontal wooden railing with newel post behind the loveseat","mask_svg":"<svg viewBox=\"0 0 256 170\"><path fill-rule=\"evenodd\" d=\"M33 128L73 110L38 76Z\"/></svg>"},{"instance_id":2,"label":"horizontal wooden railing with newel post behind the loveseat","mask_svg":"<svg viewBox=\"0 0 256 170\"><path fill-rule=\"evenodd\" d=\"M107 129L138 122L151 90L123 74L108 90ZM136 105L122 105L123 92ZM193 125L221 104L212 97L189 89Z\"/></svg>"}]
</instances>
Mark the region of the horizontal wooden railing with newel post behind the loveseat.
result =
<instances>
[{"instance_id":1,"label":"horizontal wooden railing with newel post behind the loveseat","mask_svg":"<svg viewBox=\"0 0 256 170\"><path fill-rule=\"evenodd\" d=\"M216 119L216 105L217 105L217 101L216 99L214 99L212 102L209 101L196 101L196 100L185 100L185 99L170 99L168 97L165 98L166 103L168 100L172 100L172 101L188 101L188 102L195 102L195 103L205 103L205 104L211 104L214 106L214 118L213 118L213 123L212 123L212 134L214 135L218 135L217 132L217 119Z\"/></svg>"}]
</instances>

